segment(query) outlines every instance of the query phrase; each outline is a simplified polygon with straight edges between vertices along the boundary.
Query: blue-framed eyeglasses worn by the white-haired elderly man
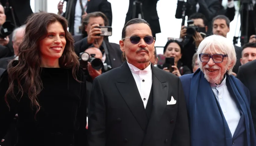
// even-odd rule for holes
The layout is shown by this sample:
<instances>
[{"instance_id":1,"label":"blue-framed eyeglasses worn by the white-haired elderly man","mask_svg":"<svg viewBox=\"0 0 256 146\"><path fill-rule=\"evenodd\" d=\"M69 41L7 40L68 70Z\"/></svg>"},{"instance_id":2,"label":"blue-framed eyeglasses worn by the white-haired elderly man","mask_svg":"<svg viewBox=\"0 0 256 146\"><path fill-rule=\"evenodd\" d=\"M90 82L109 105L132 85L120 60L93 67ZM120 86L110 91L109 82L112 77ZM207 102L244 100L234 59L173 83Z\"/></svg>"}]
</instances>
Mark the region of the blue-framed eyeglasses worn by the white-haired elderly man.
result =
<instances>
[{"instance_id":1,"label":"blue-framed eyeglasses worn by the white-haired elderly man","mask_svg":"<svg viewBox=\"0 0 256 146\"><path fill-rule=\"evenodd\" d=\"M214 63L221 63L224 60L224 57L227 57L226 54L199 54L199 59L201 62L209 62L209 60L212 58Z\"/></svg>"}]
</instances>

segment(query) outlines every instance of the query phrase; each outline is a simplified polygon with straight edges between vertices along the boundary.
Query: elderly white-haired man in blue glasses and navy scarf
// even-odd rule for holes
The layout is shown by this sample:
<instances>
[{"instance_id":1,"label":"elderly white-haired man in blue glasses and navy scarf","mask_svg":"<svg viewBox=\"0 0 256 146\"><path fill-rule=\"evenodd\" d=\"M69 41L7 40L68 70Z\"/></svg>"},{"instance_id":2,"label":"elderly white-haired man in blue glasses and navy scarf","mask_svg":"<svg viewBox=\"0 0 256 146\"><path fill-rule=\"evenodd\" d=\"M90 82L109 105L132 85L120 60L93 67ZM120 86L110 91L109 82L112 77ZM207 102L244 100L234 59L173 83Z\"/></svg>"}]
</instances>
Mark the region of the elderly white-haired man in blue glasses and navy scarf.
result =
<instances>
[{"instance_id":1,"label":"elderly white-haired man in blue glasses and navy scarf","mask_svg":"<svg viewBox=\"0 0 256 146\"><path fill-rule=\"evenodd\" d=\"M180 77L187 103L191 146L256 146L250 93L232 73L233 43L206 37L197 50L200 69Z\"/></svg>"}]
</instances>

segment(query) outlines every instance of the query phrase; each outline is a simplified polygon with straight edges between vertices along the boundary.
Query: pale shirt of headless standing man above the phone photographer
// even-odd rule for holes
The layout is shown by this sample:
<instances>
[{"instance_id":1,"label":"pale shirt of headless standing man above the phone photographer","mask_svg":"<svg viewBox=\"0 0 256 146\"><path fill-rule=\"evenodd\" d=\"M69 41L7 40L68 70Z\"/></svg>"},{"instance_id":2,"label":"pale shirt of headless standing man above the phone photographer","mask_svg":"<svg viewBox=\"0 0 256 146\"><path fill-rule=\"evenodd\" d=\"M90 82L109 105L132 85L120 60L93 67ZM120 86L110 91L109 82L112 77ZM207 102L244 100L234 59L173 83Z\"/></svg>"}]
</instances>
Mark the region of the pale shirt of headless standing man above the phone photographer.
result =
<instances>
[{"instance_id":1,"label":"pale shirt of headless standing man above the phone photographer","mask_svg":"<svg viewBox=\"0 0 256 146\"><path fill-rule=\"evenodd\" d=\"M84 11L86 12L86 4L87 0L82 0L82 5L84 7ZM74 20L74 34L78 35L79 33L79 26L81 26L82 21L82 9L80 5L80 1L76 0L76 8L75 8L75 20Z\"/></svg>"}]
</instances>

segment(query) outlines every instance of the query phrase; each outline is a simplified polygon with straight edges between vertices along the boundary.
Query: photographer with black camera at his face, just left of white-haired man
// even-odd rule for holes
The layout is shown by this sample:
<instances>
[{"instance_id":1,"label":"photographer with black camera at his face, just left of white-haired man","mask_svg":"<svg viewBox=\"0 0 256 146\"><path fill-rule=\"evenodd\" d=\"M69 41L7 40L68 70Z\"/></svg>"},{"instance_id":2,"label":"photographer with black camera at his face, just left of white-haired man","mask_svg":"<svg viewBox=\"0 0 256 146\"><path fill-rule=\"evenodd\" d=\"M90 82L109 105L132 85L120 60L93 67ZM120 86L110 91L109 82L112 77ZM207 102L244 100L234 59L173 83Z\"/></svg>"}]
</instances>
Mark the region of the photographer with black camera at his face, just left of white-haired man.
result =
<instances>
[{"instance_id":1,"label":"photographer with black camera at his face, just left of white-haired man","mask_svg":"<svg viewBox=\"0 0 256 146\"><path fill-rule=\"evenodd\" d=\"M196 53L197 47L204 39L205 34L208 31L208 23L205 16L201 13L192 14L188 18L188 20L192 20L188 21L188 27L181 26L180 30L180 38L183 39L184 45L184 51L181 57L181 62L183 63L184 66L187 66L191 71L193 71L192 57Z\"/></svg>"}]
</instances>

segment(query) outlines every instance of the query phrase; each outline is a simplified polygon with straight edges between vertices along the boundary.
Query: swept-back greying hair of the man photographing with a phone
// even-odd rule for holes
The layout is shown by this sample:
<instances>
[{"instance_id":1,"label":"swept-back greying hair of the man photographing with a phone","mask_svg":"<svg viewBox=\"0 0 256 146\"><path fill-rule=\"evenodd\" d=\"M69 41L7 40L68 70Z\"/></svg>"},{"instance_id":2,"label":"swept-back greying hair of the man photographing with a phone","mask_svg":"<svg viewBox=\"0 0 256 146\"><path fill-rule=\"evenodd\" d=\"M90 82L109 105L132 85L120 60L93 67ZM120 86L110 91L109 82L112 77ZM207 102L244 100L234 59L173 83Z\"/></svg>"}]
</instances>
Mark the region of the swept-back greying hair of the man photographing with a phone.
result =
<instances>
[{"instance_id":1,"label":"swept-back greying hair of the man photographing with a phone","mask_svg":"<svg viewBox=\"0 0 256 146\"><path fill-rule=\"evenodd\" d=\"M85 31L85 27L89 24L89 20L91 17L101 17L104 20L104 25L108 26L108 18L107 16L102 12L91 12L88 13L84 19L82 19L82 26L81 26L81 32L84 36L87 36L88 34Z\"/></svg>"}]
</instances>

